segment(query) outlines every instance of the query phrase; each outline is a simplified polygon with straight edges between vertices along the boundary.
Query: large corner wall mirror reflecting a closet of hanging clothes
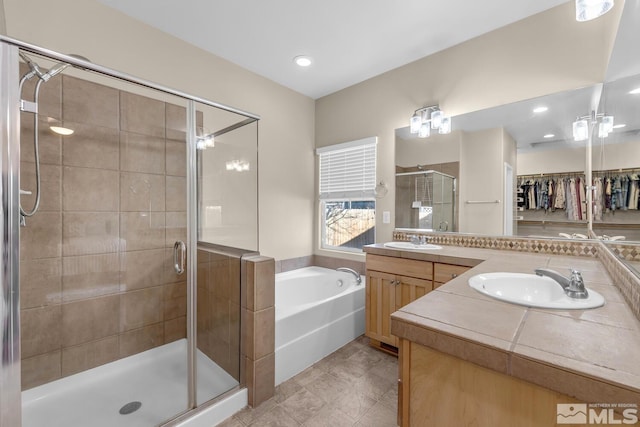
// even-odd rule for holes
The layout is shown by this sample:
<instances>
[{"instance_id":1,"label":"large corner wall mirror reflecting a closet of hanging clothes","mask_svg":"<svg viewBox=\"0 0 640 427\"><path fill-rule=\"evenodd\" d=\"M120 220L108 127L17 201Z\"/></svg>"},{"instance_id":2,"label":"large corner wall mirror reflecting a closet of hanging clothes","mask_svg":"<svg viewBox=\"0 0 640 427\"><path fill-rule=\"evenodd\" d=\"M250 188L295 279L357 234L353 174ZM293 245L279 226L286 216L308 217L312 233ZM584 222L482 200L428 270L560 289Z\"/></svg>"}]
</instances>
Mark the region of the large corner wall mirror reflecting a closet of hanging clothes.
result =
<instances>
[{"instance_id":1,"label":"large corner wall mirror reflecting a closet of hanging clothes","mask_svg":"<svg viewBox=\"0 0 640 427\"><path fill-rule=\"evenodd\" d=\"M640 244L638 3L626 2L604 82L455 116L447 135L397 129L396 228ZM576 141L585 116L591 138ZM446 192L429 186L446 176Z\"/></svg>"}]
</instances>

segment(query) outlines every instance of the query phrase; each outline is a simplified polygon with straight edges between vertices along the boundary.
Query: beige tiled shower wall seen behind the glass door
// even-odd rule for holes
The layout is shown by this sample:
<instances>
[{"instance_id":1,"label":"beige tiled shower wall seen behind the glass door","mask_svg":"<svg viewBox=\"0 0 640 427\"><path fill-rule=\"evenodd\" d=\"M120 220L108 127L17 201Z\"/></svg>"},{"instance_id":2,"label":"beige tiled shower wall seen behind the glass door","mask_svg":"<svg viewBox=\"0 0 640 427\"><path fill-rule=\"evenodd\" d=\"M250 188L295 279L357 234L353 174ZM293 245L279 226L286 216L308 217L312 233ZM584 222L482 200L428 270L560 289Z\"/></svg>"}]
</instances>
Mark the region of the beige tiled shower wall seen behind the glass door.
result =
<instances>
[{"instance_id":1,"label":"beige tiled shower wall seen behind the glass door","mask_svg":"<svg viewBox=\"0 0 640 427\"><path fill-rule=\"evenodd\" d=\"M43 85L40 107L75 133L41 119L42 200L20 230L24 389L186 330L186 274L172 268L186 240L184 108L69 76ZM33 116L21 119L33 191Z\"/></svg>"}]
</instances>

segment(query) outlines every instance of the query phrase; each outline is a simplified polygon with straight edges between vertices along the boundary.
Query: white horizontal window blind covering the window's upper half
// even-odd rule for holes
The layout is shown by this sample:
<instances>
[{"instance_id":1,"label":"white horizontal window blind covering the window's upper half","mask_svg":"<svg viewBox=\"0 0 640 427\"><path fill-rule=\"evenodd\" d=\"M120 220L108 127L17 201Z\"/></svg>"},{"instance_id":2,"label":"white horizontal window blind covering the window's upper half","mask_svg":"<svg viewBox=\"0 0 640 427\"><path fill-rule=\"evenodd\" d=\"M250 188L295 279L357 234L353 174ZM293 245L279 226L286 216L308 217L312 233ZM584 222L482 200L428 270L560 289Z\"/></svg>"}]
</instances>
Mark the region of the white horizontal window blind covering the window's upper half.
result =
<instances>
[{"instance_id":1,"label":"white horizontal window blind covering the window's upper half","mask_svg":"<svg viewBox=\"0 0 640 427\"><path fill-rule=\"evenodd\" d=\"M319 148L320 199L375 197L376 143L371 137Z\"/></svg>"}]
</instances>

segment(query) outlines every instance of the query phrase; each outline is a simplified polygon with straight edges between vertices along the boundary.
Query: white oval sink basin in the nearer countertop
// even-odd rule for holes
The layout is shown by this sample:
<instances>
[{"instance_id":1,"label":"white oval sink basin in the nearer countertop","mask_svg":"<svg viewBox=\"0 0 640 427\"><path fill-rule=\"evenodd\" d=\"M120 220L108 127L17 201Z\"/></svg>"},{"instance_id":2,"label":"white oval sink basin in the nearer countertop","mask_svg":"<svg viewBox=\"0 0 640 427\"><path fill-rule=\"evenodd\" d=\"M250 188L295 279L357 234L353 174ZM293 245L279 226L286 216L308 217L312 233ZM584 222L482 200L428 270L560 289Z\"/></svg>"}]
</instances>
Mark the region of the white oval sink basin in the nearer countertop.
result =
<instances>
[{"instance_id":1,"label":"white oval sink basin in the nearer countertop","mask_svg":"<svg viewBox=\"0 0 640 427\"><path fill-rule=\"evenodd\" d=\"M501 301L528 307L584 310L604 305L604 297L587 289L586 299L570 298L550 277L523 273L486 273L469 279L473 289Z\"/></svg>"}]
</instances>

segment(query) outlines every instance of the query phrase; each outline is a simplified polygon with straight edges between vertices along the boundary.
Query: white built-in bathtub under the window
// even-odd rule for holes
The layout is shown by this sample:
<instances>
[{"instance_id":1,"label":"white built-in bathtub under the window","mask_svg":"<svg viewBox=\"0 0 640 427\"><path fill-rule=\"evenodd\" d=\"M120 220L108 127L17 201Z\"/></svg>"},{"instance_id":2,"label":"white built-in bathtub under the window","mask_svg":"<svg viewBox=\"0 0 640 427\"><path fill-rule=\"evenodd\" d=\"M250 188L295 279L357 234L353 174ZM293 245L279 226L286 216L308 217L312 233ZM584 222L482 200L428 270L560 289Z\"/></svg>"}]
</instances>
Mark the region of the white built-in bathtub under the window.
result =
<instances>
[{"instance_id":1,"label":"white built-in bathtub under the window","mask_svg":"<svg viewBox=\"0 0 640 427\"><path fill-rule=\"evenodd\" d=\"M364 333L361 278L322 267L276 274L276 385Z\"/></svg>"}]
</instances>

